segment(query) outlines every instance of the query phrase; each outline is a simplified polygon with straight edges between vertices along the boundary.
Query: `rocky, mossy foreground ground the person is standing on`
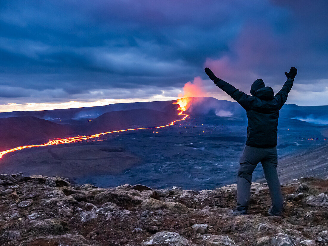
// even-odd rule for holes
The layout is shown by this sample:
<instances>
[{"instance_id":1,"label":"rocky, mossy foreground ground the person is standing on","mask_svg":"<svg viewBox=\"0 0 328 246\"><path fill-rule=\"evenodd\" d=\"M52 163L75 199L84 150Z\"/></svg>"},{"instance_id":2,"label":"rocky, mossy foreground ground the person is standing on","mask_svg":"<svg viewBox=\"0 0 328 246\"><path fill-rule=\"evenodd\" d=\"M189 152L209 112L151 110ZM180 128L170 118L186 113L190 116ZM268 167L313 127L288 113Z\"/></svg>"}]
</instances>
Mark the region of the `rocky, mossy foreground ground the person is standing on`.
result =
<instances>
[{"instance_id":1,"label":"rocky, mossy foreground ground the person is standing on","mask_svg":"<svg viewBox=\"0 0 328 246\"><path fill-rule=\"evenodd\" d=\"M253 183L249 215L231 217L236 185L215 190L103 189L59 177L0 175L0 245L328 245L328 179L282 185L284 216L268 216Z\"/></svg>"}]
</instances>

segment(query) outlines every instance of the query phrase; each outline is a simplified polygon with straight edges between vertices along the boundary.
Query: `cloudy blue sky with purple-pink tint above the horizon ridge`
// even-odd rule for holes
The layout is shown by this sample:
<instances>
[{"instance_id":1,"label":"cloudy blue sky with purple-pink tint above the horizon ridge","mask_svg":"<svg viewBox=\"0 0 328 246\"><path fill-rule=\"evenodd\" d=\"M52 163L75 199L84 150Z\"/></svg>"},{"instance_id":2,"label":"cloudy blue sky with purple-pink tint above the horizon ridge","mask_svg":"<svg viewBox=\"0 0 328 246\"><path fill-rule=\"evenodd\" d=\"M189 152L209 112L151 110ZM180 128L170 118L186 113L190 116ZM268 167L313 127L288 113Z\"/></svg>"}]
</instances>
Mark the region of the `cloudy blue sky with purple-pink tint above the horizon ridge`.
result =
<instances>
[{"instance_id":1,"label":"cloudy blue sky with purple-pink tint above the horizon ridge","mask_svg":"<svg viewBox=\"0 0 328 246\"><path fill-rule=\"evenodd\" d=\"M328 1L0 1L0 112L176 99L187 82L328 105ZM229 99L231 100L231 99Z\"/></svg>"}]
</instances>

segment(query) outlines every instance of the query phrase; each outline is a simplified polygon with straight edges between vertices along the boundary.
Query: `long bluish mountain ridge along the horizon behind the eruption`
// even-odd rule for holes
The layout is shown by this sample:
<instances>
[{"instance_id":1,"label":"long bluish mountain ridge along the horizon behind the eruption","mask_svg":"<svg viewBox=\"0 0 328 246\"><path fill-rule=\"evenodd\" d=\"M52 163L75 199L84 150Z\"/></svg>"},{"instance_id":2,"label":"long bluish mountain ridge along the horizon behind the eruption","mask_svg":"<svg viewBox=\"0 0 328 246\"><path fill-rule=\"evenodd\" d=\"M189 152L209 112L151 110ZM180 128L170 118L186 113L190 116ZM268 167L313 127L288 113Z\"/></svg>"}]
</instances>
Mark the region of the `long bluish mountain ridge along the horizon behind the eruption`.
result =
<instances>
[{"instance_id":1,"label":"long bluish mountain ridge along the horizon behind the eruption","mask_svg":"<svg viewBox=\"0 0 328 246\"><path fill-rule=\"evenodd\" d=\"M115 103L105 106L58 109L44 111L14 111L0 113L0 118L34 116L46 119L58 124L76 124L74 120L95 119L100 115L114 111L125 111L133 109L151 109L156 111L167 111L172 106L171 101L155 102L133 102ZM195 115L217 115L219 117L232 117L246 119L245 110L236 102L218 100L213 97L193 97L192 104L187 110L189 114ZM328 124L328 106L297 106L295 104L285 104L280 110L280 117L297 119L315 124ZM79 131L80 132L80 131Z\"/></svg>"}]
</instances>

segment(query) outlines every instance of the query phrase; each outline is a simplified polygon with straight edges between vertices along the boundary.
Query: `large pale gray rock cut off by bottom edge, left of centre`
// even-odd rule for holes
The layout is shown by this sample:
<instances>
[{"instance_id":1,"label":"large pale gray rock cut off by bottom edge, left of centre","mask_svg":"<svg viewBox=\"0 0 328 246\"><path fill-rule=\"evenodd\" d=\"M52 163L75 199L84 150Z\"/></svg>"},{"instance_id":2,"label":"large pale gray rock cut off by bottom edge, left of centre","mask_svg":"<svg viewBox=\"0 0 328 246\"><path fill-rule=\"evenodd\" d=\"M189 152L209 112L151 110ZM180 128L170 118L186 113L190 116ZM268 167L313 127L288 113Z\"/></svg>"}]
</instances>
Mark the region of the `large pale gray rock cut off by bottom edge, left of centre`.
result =
<instances>
[{"instance_id":1,"label":"large pale gray rock cut off by bottom edge, left of centre","mask_svg":"<svg viewBox=\"0 0 328 246\"><path fill-rule=\"evenodd\" d=\"M180 236L178 233L168 231L158 232L153 236L148 237L143 245L195 246L195 244L183 236Z\"/></svg>"}]
</instances>

